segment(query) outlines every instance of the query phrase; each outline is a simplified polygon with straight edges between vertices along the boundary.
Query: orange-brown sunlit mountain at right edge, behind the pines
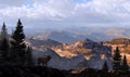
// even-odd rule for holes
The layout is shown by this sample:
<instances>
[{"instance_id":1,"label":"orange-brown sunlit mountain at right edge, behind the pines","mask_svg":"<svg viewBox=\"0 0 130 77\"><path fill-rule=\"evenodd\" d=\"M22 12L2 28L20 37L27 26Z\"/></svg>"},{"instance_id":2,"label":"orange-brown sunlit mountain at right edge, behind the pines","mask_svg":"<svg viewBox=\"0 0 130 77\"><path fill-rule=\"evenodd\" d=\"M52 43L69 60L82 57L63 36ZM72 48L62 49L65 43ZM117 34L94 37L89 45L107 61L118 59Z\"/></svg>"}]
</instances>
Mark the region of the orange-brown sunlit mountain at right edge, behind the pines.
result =
<instances>
[{"instance_id":1,"label":"orange-brown sunlit mountain at right edge, behind the pines","mask_svg":"<svg viewBox=\"0 0 130 77\"><path fill-rule=\"evenodd\" d=\"M112 39L110 41L103 43L106 47L112 47L112 54L116 50L116 47L119 48L121 55L126 54L128 64L130 65L130 39L128 38L118 38Z\"/></svg>"}]
</instances>

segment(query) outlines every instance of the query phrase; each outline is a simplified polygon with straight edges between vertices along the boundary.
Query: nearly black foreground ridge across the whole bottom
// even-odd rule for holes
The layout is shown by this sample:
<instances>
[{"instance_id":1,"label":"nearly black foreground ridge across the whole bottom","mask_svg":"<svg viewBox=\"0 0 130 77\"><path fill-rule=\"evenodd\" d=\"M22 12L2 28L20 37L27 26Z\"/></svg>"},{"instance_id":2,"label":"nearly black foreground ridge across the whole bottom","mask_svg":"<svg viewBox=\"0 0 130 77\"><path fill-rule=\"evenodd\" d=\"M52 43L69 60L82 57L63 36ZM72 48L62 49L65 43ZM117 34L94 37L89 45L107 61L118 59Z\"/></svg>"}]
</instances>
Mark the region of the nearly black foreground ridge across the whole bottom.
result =
<instances>
[{"instance_id":1,"label":"nearly black foreground ridge across the whole bottom","mask_svg":"<svg viewBox=\"0 0 130 77\"><path fill-rule=\"evenodd\" d=\"M18 66L0 63L0 77L130 77L130 72L93 68L60 70L47 66Z\"/></svg>"}]
</instances>

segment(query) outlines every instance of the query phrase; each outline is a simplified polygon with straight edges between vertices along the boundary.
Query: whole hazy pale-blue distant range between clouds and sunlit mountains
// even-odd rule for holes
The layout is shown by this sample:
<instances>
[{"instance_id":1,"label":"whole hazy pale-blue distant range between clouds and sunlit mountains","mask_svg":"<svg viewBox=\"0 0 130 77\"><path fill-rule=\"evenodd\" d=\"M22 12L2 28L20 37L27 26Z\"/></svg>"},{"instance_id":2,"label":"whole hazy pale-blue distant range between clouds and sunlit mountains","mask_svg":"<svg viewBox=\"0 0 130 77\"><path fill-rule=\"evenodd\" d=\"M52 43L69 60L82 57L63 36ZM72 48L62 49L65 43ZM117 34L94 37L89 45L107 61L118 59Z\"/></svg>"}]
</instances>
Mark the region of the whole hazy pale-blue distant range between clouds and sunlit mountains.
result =
<instances>
[{"instance_id":1,"label":"whole hazy pale-blue distant range between clouds and sunlit mountains","mask_svg":"<svg viewBox=\"0 0 130 77\"><path fill-rule=\"evenodd\" d=\"M86 38L94 41L109 41L114 38L129 38L130 28L125 27L101 27L101 26L89 26L89 27L69 27L62 29L39 29L31 31L32 29L26 30L28 37L50 38L52 40L62 43L75 43ZM34 34L32 34L34 33Z\"/></svg>"}]
</instances>

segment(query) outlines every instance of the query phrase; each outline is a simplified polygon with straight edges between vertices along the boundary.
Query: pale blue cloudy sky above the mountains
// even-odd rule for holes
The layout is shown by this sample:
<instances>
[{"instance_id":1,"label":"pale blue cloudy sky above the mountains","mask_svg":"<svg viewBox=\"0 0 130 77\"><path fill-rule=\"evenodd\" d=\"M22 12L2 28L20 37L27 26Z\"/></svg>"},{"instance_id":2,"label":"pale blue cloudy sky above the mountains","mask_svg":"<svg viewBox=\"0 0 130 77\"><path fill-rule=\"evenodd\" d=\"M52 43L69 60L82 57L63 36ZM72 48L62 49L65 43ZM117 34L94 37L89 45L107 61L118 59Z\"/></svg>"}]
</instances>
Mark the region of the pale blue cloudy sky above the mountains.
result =
<instances>
[{"instance_id":1,"label":"pale blue cloudy sky above the mountains","mask_svg":"<svg viewBox=\"0 0 130 77\"><path fill-rule=\"evenodd\" d=\"M129 26L130 0L0 0L0 24L25 27Z\"/></svg>"}]
</instances>

